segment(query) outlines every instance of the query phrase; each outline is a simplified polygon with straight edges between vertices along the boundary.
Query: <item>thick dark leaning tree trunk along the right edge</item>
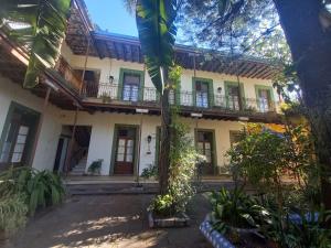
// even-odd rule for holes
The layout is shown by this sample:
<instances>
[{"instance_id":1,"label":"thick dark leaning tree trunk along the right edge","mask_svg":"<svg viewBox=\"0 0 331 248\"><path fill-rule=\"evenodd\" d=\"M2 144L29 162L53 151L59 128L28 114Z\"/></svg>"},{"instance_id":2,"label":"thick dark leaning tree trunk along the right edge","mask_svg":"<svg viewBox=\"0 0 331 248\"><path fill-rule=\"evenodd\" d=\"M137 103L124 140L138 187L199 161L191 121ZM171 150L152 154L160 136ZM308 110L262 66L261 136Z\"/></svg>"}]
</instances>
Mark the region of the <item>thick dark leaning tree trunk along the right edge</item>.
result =
<instances>
[{"instance_id":1,"label":"thick dark leaning tree trunk along the right edge","mask_svg":"<svg viewBox=\"0 0 331 248\"><path fill-rule=\"evenodd\" d=\"M320 22L322 0L274 0L308 108L322 197L331 209L331 31Z\"/></svg>"}]
</instances>

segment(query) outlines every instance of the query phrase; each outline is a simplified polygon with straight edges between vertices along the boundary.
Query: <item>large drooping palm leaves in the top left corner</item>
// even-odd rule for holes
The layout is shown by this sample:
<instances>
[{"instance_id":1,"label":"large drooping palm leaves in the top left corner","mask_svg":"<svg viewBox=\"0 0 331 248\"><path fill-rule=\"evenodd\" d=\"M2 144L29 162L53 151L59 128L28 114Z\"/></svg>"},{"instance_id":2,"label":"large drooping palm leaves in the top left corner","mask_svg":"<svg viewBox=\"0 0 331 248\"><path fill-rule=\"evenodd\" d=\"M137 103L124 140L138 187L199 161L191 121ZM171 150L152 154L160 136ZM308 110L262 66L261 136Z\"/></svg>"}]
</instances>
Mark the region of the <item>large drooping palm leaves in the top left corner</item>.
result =
<instances>
[{"instance_id":1,"label":"large drooping palm leaves in the top left corner","mask_svg":"<svg viewBox=\"0 0 331 248\"><path fill-rule=\"evenodd\" d=\"M70 6L71 0L1 0L1 30L29 47L24 87L34 87L41 71L55 66Z\"/></svg>"}]
</instances>

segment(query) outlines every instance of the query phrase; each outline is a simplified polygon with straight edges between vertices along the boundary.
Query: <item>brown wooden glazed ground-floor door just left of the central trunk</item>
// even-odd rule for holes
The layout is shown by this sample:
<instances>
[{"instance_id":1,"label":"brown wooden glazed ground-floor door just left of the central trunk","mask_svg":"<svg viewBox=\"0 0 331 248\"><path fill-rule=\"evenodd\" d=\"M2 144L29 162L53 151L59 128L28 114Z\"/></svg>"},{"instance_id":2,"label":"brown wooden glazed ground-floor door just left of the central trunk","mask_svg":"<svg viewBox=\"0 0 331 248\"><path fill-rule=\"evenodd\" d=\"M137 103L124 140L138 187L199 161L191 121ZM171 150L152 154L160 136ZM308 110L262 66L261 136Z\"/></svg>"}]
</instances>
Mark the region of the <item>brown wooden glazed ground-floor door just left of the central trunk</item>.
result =
<instances>
[{"instance_id":1,"label":"brown wooden glazed ground-floor door just left of the central trunk","mask_svg":"<svg viewBox=\"0 0 331 248\"><path fill-rule=\"evenodd\" d=\"M134 174L136 129L118 129L114 174Z\"/></svg>"}]
</instances>

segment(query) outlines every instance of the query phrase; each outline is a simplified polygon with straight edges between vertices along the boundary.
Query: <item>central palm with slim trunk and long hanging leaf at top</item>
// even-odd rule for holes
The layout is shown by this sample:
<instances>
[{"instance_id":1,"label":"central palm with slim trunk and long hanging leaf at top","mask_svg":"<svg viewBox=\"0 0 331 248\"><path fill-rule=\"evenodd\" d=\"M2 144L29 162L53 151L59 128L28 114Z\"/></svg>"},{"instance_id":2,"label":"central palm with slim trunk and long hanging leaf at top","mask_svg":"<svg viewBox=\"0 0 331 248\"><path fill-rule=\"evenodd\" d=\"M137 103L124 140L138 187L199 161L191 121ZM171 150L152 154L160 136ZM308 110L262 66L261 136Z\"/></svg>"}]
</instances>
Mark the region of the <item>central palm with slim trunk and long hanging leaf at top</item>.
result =
<instances>
[{"instance_id":1,"label":"central palm with slim trunk and long hanging leaf at top","mask_svg":"<svg viewBox=\"0 0 331 248\"><path fill-rule=\"evenodd\" d=\"M167 194L169 180L171 140L169 91L171 89L171 82L168 74L170 67L173 65L177 9L177 0L137 0L136 7L136 20L145 64L153 85L160 93L160 194Z\"/></svg>"}]
</instances>

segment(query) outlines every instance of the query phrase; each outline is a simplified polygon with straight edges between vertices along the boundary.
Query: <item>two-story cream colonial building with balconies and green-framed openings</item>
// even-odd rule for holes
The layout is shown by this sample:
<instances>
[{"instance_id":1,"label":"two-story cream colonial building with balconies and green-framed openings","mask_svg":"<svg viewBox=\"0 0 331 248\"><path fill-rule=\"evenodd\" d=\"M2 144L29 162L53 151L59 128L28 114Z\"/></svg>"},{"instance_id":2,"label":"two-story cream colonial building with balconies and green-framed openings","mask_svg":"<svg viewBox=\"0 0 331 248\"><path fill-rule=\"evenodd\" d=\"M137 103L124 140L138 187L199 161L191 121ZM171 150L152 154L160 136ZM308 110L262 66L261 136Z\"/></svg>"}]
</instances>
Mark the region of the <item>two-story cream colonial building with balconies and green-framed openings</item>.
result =
<instances>
[{"instance_id":1,"label":"two-story cream colonial building with balconies and green-framed openings","mask_svg":"<svg viewBox=\"0 0 331 248\"><path fill-rule=\"evenodd\" d=\"M0 33L0 168L79 175L103 160L102 175L140 174L158 163L161 123L139 40L95 30L82 0L71 12L57 66L33 89L22 88L28 51ZM241 122L280 123L270 63L184 45L175 62L183 72L170 101L206 155L203 174L224 172Z\"/></svg>"}]
</instances>

